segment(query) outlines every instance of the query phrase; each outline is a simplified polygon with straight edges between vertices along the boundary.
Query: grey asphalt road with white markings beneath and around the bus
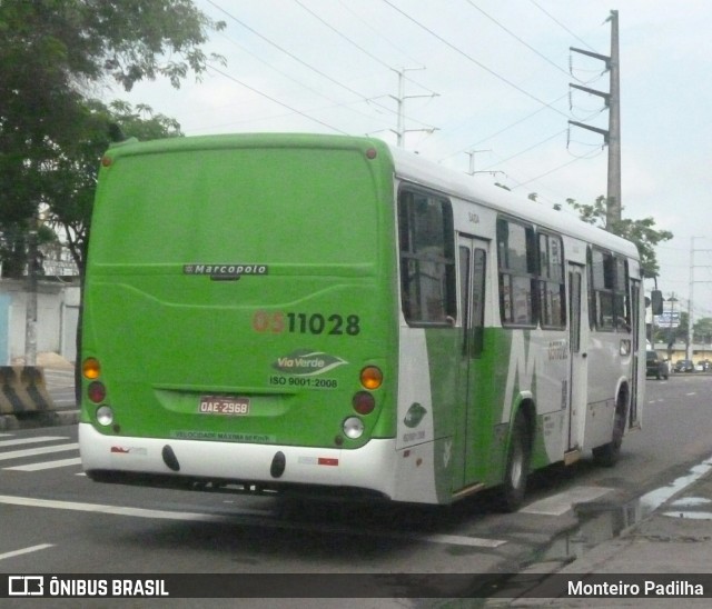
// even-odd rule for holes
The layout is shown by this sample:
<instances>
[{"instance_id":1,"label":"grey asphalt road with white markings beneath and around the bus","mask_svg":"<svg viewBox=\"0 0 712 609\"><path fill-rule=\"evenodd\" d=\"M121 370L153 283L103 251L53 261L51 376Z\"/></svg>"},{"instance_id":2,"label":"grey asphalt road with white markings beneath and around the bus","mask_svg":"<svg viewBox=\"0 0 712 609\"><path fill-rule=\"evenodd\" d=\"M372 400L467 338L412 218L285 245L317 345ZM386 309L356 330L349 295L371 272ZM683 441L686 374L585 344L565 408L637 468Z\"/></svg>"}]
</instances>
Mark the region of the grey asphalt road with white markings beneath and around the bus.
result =
<instances>
[{"instance_id":1,"label":"grey asphalt road with white markings beneath and around the bus","mask_svg":"<svg viewBox=\"0 0 712 609\"><path fill-rule=\"evenodd\" d=\"M623 510L623 522L594 517L634 505L712 453L711 390L712 376L647 380L644 429L625 438L615 468L590 459L551 468L512 515L497 512L487 492L423 508L99 485L81 472L76 426L4 431L0 572L195 572L249 581L256 573L513 573L565 562L644 507ZM277 582L269 585L266 596L279 596Z\"/></svg>"}]
</instances>

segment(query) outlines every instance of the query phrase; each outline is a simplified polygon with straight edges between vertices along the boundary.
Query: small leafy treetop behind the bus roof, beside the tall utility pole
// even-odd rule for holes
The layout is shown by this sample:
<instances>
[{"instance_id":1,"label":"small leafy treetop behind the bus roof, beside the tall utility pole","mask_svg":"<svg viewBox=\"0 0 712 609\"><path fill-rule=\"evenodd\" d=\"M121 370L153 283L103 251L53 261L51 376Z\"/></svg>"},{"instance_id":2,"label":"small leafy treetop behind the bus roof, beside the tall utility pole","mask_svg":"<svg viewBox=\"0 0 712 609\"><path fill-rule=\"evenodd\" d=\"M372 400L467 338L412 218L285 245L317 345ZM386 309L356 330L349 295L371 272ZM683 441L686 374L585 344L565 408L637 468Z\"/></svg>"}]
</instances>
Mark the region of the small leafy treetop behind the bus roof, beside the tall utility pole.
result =
<instances>
[{"instance_id":1,"label":"small leafy treetop behind the bus roof, beside the tall utility pole","mask_svg":"<svg viewBox=\"0 0 712 609\"><path fill-rule=\"evenodd\" d=\"M669 230L656 230L654 228L655 220L651 217L641 220L623 218L613 226L607 226L605 200L602 194L593 204L578 203L574 199L566 199L566 202L578 211L584 222L597 226L635 243L641 254L641 264L645 277L657 277L660 266L655 256L655 247L661 241L672 239L673 233Z\"/></svg>"}]
</instances>

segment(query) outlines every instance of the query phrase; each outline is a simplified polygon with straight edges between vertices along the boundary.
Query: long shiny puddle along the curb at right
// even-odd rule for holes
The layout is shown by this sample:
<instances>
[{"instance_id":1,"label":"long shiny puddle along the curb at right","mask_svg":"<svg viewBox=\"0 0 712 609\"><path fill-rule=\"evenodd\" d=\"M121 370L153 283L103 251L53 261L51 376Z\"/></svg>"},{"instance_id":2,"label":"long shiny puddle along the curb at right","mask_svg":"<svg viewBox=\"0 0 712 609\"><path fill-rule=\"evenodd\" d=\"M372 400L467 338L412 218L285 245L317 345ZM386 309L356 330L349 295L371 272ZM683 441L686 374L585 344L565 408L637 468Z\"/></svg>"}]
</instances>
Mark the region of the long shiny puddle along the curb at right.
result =
<instances>
[{"instance_id":1,"label":"long shiny puddle along the curb at right","mask_svg":"<svg viewBox=\"0 0 712 609\"><path fill-rule=\"evenodd\" d=\"M694 466L689 473L676 478L670 485L646 492L623 506L596 501L574 506L581 525L555 538L536 556L533 562L561 561L568 563L583 557L600 543L623 535L710 470L712 470L712 457ZM662 513L674 518L712 519L712 511L709 511L711 505L712 500L710 499L681 497L670 505L669 510Z\"/></svg>"}]
</instances>

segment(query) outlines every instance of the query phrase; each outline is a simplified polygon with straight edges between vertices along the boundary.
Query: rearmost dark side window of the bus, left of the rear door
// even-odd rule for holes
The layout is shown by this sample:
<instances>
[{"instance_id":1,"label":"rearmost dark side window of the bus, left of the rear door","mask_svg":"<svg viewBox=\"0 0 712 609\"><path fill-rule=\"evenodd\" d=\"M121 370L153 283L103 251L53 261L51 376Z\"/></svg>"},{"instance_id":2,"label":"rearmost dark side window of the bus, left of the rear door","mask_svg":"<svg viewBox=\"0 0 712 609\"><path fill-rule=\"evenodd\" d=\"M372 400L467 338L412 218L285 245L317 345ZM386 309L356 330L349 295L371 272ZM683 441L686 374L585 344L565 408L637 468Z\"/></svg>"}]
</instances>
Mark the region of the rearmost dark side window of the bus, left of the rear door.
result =
<instances>
[{"instance_id":1,"label":"rearmost dark side window of the bus, left of the rear door","mask_svg":"<svg viewBox=\"0 0 712 609\"><path fill-rule=\"evenodd\" d=\"M408 325L451 326L457 316L451 202L431 193L402 190L398 241L405 320Z\"/></svg>"}]
</instances>

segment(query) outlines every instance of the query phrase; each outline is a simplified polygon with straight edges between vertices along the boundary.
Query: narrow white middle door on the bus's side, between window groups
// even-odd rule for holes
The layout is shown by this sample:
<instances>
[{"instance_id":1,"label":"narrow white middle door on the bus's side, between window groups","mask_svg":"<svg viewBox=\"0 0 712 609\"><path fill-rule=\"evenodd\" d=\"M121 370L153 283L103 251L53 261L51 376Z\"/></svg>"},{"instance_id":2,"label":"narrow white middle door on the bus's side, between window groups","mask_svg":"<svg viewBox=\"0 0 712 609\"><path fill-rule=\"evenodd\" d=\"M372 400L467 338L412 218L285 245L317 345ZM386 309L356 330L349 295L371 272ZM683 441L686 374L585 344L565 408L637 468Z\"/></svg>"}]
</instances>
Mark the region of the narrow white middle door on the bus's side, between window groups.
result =
<instances>
[{"instance_id":1,"label":"narrow white middle door on the bus's side, between window groups","mask_svg":"<svg viewBox=\"0 0 712 609\"><path fill-rule=\"evenodd\" d=\"M568 387L567 452L580 450L586 420L589 300L586 272L582 264L568 263L568 346L571 372Z\"/></svg>"}]
</instances>

